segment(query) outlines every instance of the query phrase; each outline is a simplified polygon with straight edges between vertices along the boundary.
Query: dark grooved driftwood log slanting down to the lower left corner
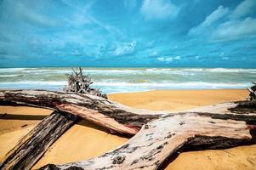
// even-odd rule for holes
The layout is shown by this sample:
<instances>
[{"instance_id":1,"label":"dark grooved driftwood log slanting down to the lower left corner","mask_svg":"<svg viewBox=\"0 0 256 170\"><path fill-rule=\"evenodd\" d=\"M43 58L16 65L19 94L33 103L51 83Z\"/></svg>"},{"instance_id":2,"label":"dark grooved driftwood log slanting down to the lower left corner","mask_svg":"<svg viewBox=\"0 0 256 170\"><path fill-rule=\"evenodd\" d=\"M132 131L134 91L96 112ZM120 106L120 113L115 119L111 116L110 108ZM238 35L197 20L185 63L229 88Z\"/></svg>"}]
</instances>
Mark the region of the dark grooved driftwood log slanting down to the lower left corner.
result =
<instances>
[{"instance_id":1,"label":"dark grooved driftwood log slanting down to the lower left corner","mask_svg":"<svg viewBox=\"0 0 256 170\"><path fill-rule=\"evenodd\" d=\"M30 169L77 119L77 116L70 113L54 111L20 139L19 144L5 156L0 169Z\"/></svg>"}]
</instances>

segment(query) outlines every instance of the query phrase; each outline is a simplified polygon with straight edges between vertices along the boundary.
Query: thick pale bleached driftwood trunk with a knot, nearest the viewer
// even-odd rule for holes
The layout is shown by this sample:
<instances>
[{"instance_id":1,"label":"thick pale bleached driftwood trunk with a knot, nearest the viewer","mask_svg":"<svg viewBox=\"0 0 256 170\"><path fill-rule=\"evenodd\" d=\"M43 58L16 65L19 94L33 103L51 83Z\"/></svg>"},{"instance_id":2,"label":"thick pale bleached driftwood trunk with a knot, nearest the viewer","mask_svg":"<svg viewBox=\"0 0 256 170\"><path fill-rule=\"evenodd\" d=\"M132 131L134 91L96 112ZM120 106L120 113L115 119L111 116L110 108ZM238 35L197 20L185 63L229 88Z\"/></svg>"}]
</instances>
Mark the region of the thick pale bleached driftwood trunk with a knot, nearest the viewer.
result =
<instances>
[{"instance_id":1,"label":"thick pale bleached driftwood trunk with a knot, nearest the viewer","mask_svg":"<svg viewBox=\"0 0 256 170\"><path fill-rule=\"evenodd\" d=\"M183 147L202 150L255 143L255 136L251 135L255 130L255 125L243 121L214 119L193 112L168 115L145 124L126 144L102 156L49 164L41 169L157 169Z\"/></svg>"}]
</instances>

